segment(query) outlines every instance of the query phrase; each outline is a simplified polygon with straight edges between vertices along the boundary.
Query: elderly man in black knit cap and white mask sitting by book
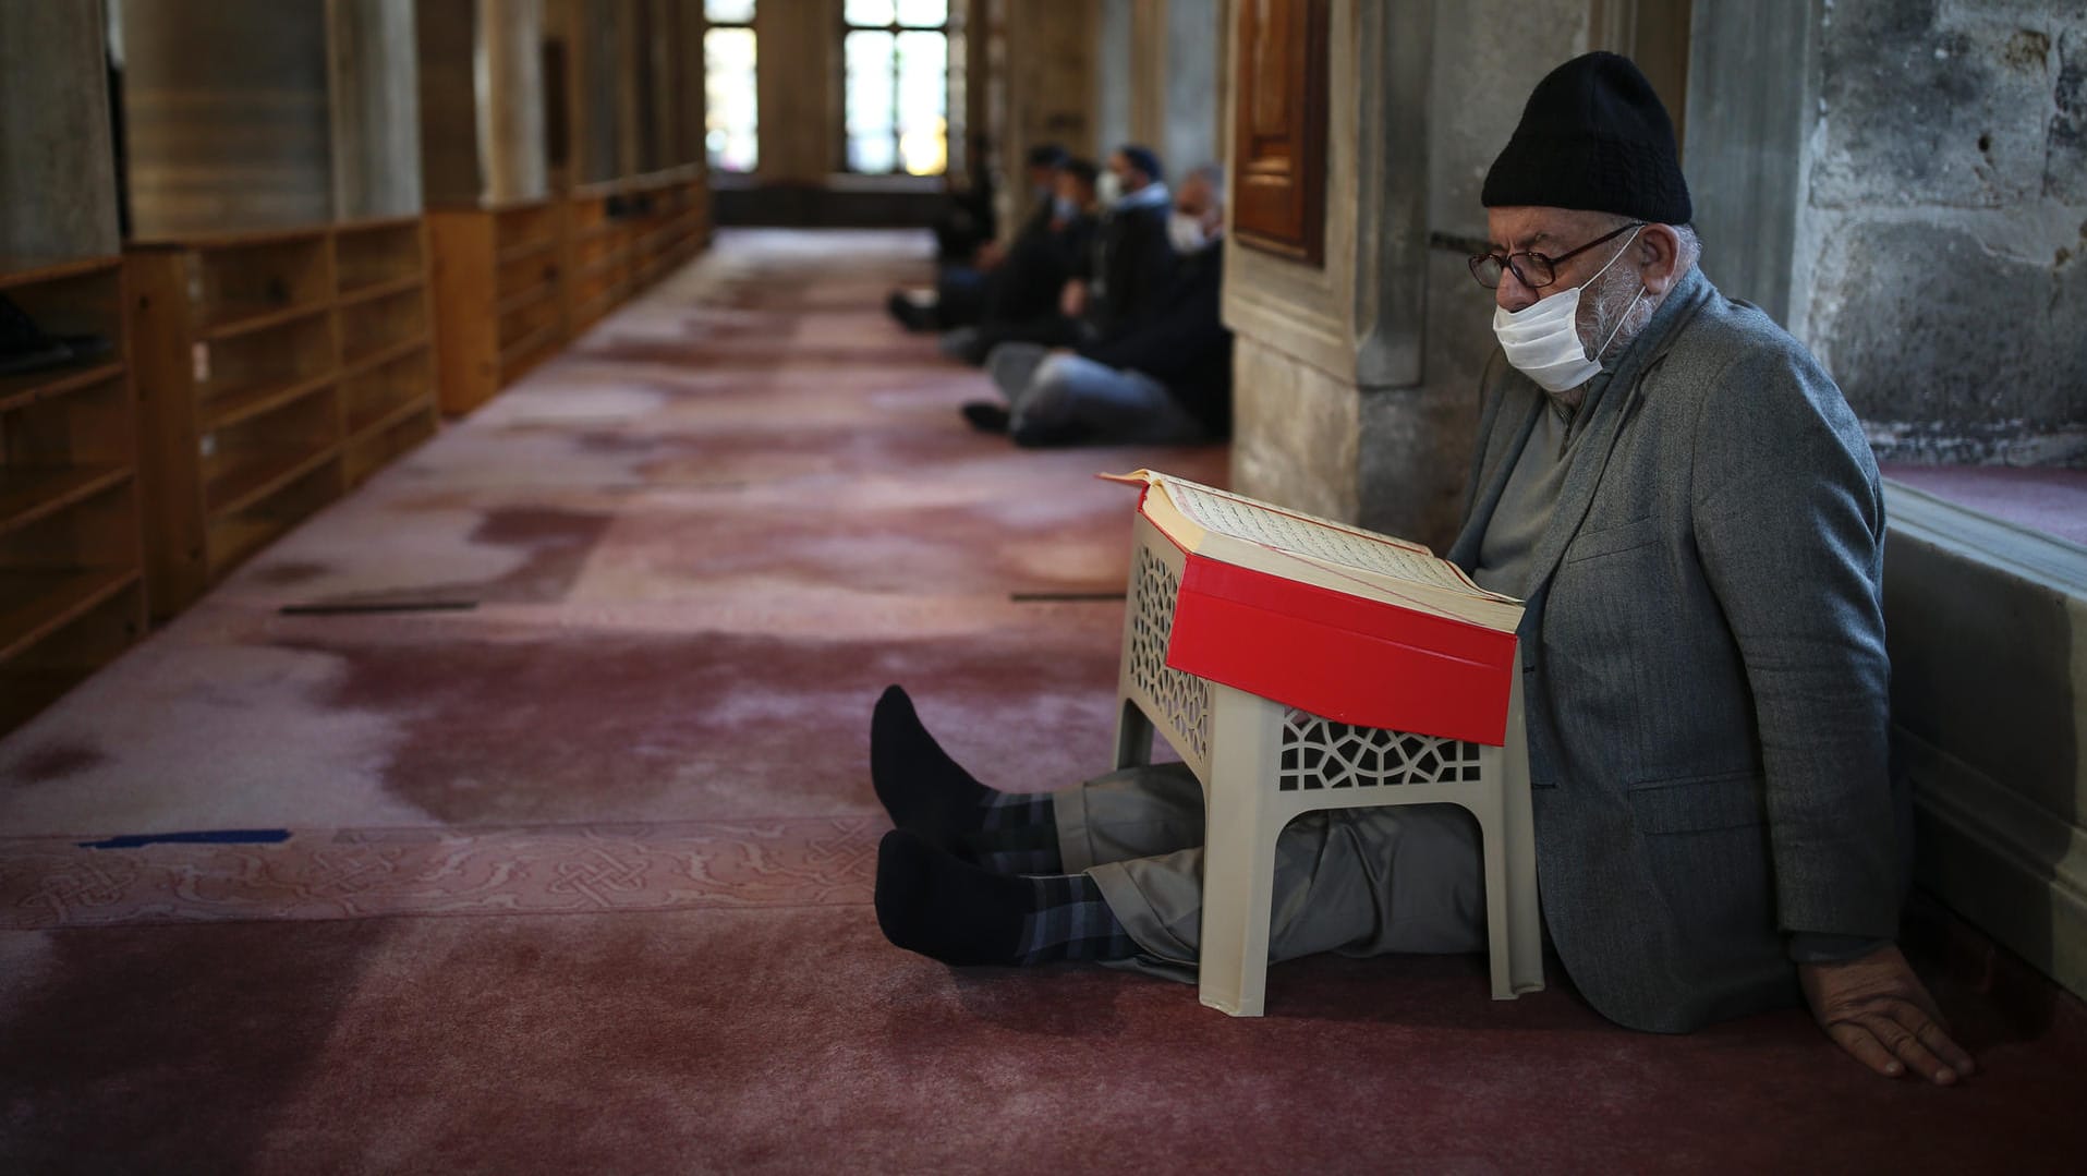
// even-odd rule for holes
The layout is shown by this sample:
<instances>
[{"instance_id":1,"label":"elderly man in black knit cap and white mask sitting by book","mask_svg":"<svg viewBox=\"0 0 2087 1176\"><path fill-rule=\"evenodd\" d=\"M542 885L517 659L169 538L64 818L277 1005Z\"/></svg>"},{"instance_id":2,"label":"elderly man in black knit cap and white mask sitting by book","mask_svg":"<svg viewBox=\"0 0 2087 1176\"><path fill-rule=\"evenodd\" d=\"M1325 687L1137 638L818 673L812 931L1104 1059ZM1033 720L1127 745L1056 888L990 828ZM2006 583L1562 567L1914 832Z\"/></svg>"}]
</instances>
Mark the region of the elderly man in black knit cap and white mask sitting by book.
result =
<instances>
[{"instance_id":1,"label":"elderly man in black knit cap and white mask sitting by book","mask_svg":"<svg viewBox=\"0 0 2087 1176\"><path fill-rule=\"evenodd\" d=\"M1972 1059L1893 946L1901 815L1876 464L1841 391L1697 267L1674 132L1626 58L1544 77L1486 175L1501 353L1450 560L1528 602L1544 927L1586 1001L1684 1032L1807 1001L1880 1074ZM887 691L899 825L877 915L950 963L1190 973L1200 792L1133 769L991 792ZM1271 959L1484 946L1478 836L1442 808L1281 833Z\"/></svg>"}]
</instances>

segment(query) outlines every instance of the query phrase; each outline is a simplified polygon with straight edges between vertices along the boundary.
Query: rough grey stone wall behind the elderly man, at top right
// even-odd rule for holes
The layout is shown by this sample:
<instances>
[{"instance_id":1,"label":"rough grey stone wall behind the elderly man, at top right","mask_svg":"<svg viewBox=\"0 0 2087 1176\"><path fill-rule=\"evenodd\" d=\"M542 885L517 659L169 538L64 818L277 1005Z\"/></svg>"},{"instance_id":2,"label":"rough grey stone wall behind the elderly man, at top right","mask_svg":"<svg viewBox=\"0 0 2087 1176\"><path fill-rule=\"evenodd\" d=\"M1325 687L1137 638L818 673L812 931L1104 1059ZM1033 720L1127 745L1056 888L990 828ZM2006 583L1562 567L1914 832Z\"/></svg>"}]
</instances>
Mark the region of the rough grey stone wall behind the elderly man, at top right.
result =
<instances>
[{"instance_id":1,"label":"rough grey stone wall behind the elderly man, at top right","mask_svg":"<svg viewBox=\"0 0 2087 1176\"><path fill-rule=\"evenodd\" d=\"M1793 330L1880 457L2087 466L2087 8L1834 0Z\"/></svg>"}]
</instances>

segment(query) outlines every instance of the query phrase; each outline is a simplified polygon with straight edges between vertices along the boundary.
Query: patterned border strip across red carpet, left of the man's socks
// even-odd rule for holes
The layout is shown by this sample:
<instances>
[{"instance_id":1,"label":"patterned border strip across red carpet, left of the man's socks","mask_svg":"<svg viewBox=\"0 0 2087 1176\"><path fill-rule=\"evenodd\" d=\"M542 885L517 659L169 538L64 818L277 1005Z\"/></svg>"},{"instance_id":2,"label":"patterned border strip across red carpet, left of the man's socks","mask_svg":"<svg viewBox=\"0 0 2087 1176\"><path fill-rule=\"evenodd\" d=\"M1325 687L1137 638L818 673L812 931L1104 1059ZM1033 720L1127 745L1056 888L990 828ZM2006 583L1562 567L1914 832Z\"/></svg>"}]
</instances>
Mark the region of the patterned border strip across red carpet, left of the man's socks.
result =
<instances>
[{"instance_id":1,"label":"patterned border strip across red carpet, left of the man's socks","mask_svg":"<svg viewBox=\"0 0 2087 1176\"><path fill-rule=\"evenodd\" d=\"M303 829L280 844L0 840L0 930L868 902L872 817Z\"/></svg>"}]
</instances>

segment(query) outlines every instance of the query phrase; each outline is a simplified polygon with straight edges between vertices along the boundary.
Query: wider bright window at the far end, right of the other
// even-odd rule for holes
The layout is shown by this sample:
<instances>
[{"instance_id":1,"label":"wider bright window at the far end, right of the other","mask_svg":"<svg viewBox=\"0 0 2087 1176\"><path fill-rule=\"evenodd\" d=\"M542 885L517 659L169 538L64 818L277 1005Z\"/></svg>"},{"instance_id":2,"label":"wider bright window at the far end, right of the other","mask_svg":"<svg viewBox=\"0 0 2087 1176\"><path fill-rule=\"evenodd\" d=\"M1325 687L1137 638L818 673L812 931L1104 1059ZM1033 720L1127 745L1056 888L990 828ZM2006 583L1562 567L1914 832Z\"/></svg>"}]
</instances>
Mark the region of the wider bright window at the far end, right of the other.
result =
<instances>
[{"instance_id":1,"label":"wider bright window at the far end, right of the other","mask_svg":"<svg viewBox=\"0 0 2087 1176\"><path fill-rule=\"evenodd\" d=\"M950 167L950 0L847 0L847 169Z\"/></svg>"}]
</instances>

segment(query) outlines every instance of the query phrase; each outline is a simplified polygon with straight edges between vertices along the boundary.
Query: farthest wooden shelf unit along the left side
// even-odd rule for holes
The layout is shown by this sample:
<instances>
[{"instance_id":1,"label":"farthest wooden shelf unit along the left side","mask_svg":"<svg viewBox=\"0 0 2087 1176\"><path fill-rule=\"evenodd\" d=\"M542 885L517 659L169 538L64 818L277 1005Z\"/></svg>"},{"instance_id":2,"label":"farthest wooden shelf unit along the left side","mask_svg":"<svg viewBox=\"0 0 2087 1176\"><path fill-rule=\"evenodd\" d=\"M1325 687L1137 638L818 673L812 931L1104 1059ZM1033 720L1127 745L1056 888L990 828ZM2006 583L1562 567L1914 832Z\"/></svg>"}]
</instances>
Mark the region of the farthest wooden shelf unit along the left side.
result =
<instances>
[{"instance_id":1,"label":"farthest wooden shelf unit along the left side","mask_svg":"<svg viewBox=\"0 0 2087 1176\"><path fill-rule=\"evenodd\" d=\"M707 240L710 186L699 169L576 188L566 198L568 332L582 334Z\"/></svg>"}]
</instances>

